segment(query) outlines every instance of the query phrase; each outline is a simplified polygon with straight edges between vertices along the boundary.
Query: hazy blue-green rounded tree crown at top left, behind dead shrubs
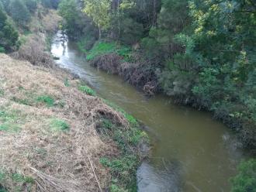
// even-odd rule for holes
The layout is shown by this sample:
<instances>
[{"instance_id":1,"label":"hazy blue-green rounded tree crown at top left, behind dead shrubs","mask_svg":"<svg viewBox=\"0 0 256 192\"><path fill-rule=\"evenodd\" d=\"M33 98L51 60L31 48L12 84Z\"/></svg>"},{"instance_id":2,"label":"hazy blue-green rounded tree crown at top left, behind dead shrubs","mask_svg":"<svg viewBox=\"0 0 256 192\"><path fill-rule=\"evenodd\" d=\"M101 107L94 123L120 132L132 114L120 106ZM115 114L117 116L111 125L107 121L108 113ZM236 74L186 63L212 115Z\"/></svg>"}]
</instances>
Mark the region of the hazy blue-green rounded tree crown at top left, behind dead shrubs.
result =
<instances>
[{"instance_id":1,"label":"hazy blue-green rounded tree crown at top left, behind dead shrubs","mask_svg":"<svg viewBox=\"0 0 256 192\"><path fill-rule=\"evenodd\" d=\"M29 9L22 0L11 0L9 3L9 12L12 19L21 27L26 27L30 21Z\"/></svg>"}]
</instances>

